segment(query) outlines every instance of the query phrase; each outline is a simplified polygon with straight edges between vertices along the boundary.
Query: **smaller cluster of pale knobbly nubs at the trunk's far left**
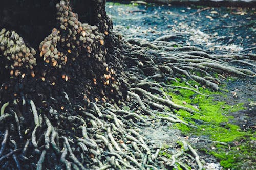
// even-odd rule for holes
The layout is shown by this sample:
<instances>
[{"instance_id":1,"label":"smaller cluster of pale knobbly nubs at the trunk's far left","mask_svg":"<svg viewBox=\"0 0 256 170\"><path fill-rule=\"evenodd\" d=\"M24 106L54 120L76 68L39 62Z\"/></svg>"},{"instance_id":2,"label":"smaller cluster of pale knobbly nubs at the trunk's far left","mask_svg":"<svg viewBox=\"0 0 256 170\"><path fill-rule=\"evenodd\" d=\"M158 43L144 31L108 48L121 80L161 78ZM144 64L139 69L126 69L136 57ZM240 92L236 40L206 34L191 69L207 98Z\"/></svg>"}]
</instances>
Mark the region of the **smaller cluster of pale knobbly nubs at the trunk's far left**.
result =
<instances>
[{"instance_id":1,"label":"smaller cluster of pale knobbly nubs at the trunk's far left","mask_svg":"<svg viewBox=\"0 0 256 170\"><path fill-rule=\"evenodd\" d=\"M26 46L22 37L15 31L3 28L0 31L0 54L6 62L5 67L10 70L11 75L20 74L21 67L33 69L36 66L36 51Z\"/></svg>"}]
</instances>

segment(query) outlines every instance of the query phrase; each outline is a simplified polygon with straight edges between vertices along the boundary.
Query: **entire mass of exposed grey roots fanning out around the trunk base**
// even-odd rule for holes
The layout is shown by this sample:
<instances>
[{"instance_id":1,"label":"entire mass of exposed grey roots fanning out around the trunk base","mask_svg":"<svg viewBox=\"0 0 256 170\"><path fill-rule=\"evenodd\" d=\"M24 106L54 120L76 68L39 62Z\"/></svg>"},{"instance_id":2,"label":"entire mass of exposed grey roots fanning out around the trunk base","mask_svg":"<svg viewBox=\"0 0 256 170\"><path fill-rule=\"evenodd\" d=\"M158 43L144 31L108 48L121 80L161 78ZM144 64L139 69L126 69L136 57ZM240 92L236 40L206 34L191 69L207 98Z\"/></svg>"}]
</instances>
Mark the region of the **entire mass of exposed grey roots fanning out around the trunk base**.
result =
<instances>
[{"instance_id":1,"label":"entire mass of exposed grey roots fanning out around the trunk base","mask_svg":"<svg viewBox=\"0 0 256 170\"><path fill-rule=\"evenodd\" d=\"M148 126L148 120L159 119L196 128L196 125L184 122L172 112L168 113L166 108L183 109L191 113L198 113L198 111L175 104L165 94L165 91L167 88L185 88L200 95L205 94L199 92L198 87L172 86L167 85L163 80L168 78L173 80L174 77L181 78L181 74L184 74L187 79L201 82L218 90L220 80L212 77L211 72L208 71L209 69L215 71L220 67L222 70L227 70L228 65L222 61L217 61L218 64L215 65L208 64L202 58L211 61L214 60L214 57L205 52L170 54L173 58L164 57L164 61L153 56L161 53L151 50L146 52L143 51L143 48L140 52L131 51L131 53L133 55L130 56L136 57L135 60L138 61L138 65L133 68L140 74L137 83L131 84L133 88L128 94L130 100L135 99L139 107L135 106L134 110L126 111L109 103L98 105L90 102L90 105L85 108L80 106L81 104L73 104L66 92L62 93L61 99L65 100L61 103L55 99L56 96L51 96L51 99L59 104L50 105L48 109L37 108L35 103L27 97L23 97L19 101L14 100L11 104L4 104L1 108L0 124L6 125L5 122L8 119L9 125L7 129L1 129L4 133L0 136L2 141L0 166L3 169L178 169L179 165L184 169L187 169L187 166L202 169L202 161L187 141L181 140L178 152L170 153L167 149L150 143L135 127ZM183 54L194 55L192 56L194 59L183 60L181 57ZM166 55L166 53L162 55ZM199 56L200 59L195 59L198 55L201 58ZM143 60L139 58L143 58ZM130 59L127 57L127 60ZM173 61L177 63L173 63ZM191 62L201 62L199 64L201 66L193 65ZM126 63L130 64L127 61ZM204 73L205 77L194 75L194 67L195 70ZM147 68L157 68L152 69L157 72L148 72ZM127 71L130 76L136 74L136 72L131 74L129 69ZM253 76L253 72L241 69L232 68L228 71L234 74ZM157 74L163 76L157 76ZM151 78L160 83L150 81L146 78L147 75L152 75ZM58 108L59 106L65 106L63 107L64 111ZM26 108L31 108L28 112L31 114L30 116L33 116L30 125L25 123ZM158 116L158 112L169 117ZM150 116L145 118L141 114ZM21 140L25 138L28 140ZM161 155L162 151L171 154L171 159ZM188 159L190 161L187 161ZM196 162L196 166L189 162Z\"/></svg>"}]
</instances>

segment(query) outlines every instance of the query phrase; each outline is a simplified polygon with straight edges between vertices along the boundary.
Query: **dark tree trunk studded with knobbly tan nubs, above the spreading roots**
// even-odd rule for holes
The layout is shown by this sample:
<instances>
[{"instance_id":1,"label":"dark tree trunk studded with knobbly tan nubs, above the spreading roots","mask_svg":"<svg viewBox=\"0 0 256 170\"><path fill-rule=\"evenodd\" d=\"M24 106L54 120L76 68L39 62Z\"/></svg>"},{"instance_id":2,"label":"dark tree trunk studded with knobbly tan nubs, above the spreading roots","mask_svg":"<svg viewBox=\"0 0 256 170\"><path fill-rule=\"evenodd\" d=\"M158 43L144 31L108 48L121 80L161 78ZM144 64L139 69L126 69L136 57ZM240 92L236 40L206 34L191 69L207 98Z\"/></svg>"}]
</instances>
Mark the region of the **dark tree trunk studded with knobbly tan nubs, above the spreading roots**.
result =
<instances>
[{"instance_id":1,"label":"dark tree trunk studded with knobbly tan nubs, above the spreading roots","mask_svg":"<svg viewBox=\"0 0 256 170\"><path fill-rule=\"evenodd\" d=\"M104 5L105 1L5 1L0 7L0 63L6 68L1 69L1 83L14 77L11 81L24 84L19 91L40 94L39 103L56 87L72 89L71 95L88 100L121 100L125 85L119 75L120 40L112 34ZM28 81L36 88L26 87ZM52 83L56 85L49 86ZM17 93L17 88L9 89Z\"/></svg>"}]
</instances>

